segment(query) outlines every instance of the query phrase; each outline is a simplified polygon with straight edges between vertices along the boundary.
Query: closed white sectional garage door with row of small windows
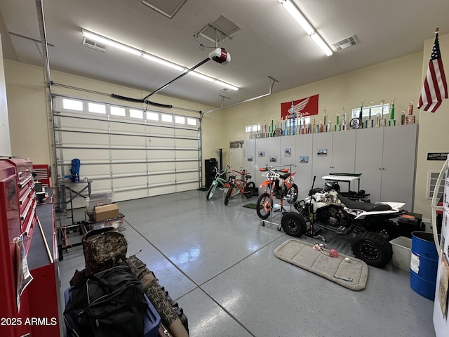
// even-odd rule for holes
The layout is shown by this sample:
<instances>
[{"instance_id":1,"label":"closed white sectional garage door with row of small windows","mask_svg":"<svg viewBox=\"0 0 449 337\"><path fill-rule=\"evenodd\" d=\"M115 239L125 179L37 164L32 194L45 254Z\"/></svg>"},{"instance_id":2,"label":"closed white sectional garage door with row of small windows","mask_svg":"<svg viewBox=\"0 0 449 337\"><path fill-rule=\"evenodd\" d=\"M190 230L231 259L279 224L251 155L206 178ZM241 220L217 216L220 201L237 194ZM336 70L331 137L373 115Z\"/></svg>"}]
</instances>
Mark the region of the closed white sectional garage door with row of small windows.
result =
<instances>
[{"instance_id":1,"label":"closed white sectional garage door with row of small windows","mask_svg":"<svg viewBox=\"0 0 449 337\"><path fill-rule=\"evenodd\" d=\"M60 183L70 184L65 176L78 158L80 180L90 180L93 193L113 192L114 201L201 185L199 118L54 96L53 124ZM86 206L73 201L74 208Z\"/></svg>"}]
</instances>

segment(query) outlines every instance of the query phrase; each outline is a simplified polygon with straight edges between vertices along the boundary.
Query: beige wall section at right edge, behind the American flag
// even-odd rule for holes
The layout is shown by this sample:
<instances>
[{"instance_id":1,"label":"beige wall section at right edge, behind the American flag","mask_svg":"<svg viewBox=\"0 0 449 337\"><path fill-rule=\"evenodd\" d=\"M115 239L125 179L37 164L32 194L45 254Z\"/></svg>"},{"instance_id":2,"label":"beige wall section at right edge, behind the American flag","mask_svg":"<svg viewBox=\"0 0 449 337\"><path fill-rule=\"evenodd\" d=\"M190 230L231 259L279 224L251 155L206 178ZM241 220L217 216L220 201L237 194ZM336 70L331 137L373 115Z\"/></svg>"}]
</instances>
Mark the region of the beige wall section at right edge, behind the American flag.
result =
<instances>
[{"instance_id":1,"label":"beige wall section at right edge, behind the American flag","mask_svg":"<svg viewBox=\"0 0 449 337\"><path fill-rule=\"evenodd\" d=\"M424 42L424 58L422 60L422 80L426 76L427 66L435 37ZM441 58L445 68L445 77L449 81L449 34L439 37ZM415 211L431 217L431 200L426 199L427 175L429 171L440 171L444 161L428 161L428 152L449 152L449 100L443 100L435 113L420 112L420 138L418 140Z\"/></svg>"}]
</instances>

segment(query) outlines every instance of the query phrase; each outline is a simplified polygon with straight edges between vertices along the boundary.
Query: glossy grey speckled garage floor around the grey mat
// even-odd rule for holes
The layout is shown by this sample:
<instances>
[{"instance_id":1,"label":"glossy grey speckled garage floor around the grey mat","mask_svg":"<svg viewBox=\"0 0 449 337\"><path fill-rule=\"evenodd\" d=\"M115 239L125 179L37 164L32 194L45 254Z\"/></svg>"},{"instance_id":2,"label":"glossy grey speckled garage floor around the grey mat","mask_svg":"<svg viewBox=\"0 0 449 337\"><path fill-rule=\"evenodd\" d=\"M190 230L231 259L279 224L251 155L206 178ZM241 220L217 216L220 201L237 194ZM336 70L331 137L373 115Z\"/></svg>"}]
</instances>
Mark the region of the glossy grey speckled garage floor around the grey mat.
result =
<instances>
[{"instance_id":1,"label":"glossy grey speckled garage floor around the grey mat","mask_svg":"<svg viewBox=\"0 0 449 337\"><path fill-rule=\"evenodd\" d=\"M137 254L184 309L190 336L435 336L434 302L391 262L369 267L366 289L351 291L276 258L274 249L291 237L262 227L255 210L243 207L256 198L225 206L221 192L207 201L193 190L119 202L128 256ZM83 220L83 210L75 218ZM326 238L328 249L352 256L348 239ZM84 267L81 246L63 257L62 299Z\"/></svg>"}]
</instances>

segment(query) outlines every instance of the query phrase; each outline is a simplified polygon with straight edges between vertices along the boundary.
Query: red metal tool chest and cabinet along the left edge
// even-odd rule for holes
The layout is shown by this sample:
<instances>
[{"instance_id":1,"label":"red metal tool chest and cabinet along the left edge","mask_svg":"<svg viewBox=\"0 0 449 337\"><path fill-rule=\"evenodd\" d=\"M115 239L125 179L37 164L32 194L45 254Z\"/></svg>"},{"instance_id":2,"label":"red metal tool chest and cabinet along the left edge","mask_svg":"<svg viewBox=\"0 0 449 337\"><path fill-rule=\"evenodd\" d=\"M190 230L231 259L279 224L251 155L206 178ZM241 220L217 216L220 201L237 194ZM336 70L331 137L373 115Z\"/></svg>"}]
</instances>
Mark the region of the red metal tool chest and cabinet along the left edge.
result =
<instances>
[{"instance_id":1,"label":"red metal tool chest and cabinet along the left edge","mask_svg":"<svg viewBox=\"0 0 449 337\"><path fill-rule=\"evenodd\" d=\"M20 171L18 171L20 170ZM59 277L53 204L38 206L29 159L0 158L0 336L61 336ZM50 249L48 256L37 215ZM26 232L26 233L25 233ZM23 234L32 282L17 304L18 258Z\"/></svg>"}]
</instances>

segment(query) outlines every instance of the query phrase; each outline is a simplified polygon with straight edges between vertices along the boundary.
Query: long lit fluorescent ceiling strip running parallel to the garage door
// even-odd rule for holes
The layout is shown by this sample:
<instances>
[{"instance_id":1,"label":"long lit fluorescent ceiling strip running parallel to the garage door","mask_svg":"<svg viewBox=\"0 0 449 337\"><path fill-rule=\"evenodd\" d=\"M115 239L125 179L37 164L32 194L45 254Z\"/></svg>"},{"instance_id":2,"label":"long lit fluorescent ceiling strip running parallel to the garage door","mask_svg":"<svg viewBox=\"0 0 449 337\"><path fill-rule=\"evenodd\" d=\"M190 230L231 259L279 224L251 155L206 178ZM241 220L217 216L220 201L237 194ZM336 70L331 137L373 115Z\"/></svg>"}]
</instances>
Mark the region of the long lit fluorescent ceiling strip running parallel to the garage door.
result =
<instances>
[{"instance_id":1,"label":"long lit fluorescent ceiling strip running parallel to the garage door","mask_svg":"<svg viewBox=\"0 0 449 337\"><path fill-rule=\"evenodd\" d=\"M140 51L137 48L133 48L133 47L128 46L126 44L122 44L120 42L114 41L113 39L109 39L107 37L102 37L101 35L98 35L98 34L95 34L95 33L92 33L92 32L88 32L88 31L86 31L84 29L81 29L81 32L83 33L83 36L88 38L88 39L100 42L100 43L105 44L107 46L118 48L121 51L126 51L127 53L131 53L133 55L141 56L142 58L145 58L147 60L150 60L150 61L153 61L153 62L157 62L157 63L159 63L159 65L165 65L166 67L170 67L170 68L172 68L174 70L178 70L180 72L187 72L187 70L189 70L189 68L187 68L187 67L183 67L182 65L178 65L178 64L176 64L174 62L170 62L169 60L165 60L163 58L159 58L158 56L146 53L144 51ZM219 86L224 86L224 87L232 89L234 91L239 90L239 87L237 87L237 86L233 86L232 84L220 81L218 79L215 79L213 77L207 76L205 74L201 74L199 72L192 71L192 72L189 72L188 74L191 74L194 77L198 77L199 79L203 79L204 81L209 81L209 82L215 83L215 84L217 84Z\"/></svg>"}]
</instances>

